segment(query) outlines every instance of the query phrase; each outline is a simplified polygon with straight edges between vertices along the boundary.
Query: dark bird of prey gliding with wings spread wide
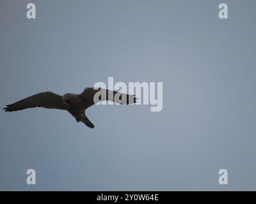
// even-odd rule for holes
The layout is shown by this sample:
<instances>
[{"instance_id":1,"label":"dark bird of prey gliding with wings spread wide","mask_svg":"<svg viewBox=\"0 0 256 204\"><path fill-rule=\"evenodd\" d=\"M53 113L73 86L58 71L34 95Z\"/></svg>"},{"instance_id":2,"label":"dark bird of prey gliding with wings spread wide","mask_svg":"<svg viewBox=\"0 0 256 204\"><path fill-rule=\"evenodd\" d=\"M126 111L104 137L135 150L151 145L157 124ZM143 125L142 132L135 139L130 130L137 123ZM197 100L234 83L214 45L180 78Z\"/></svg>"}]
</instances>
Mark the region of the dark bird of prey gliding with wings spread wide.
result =
<instances>
[{"instance_id":1,"label":"dark bird of prey gliding with wings spread wide","mask_svg":"<svg viewBox=\"0 0 256 204\"><path fill-rule=\"evenodd\" d=\"M101 88L86 88L81 94L68 93L63 96L47 91L6 105L3 110L13 112L35 107L67 110L77 122L83 122L89 128L94 128L92 122L85 115L87 108L102 101L113 101L121 105L134 104L136 103L136 99L135 95L123 94Z\"/></svg>"}]
</instances>

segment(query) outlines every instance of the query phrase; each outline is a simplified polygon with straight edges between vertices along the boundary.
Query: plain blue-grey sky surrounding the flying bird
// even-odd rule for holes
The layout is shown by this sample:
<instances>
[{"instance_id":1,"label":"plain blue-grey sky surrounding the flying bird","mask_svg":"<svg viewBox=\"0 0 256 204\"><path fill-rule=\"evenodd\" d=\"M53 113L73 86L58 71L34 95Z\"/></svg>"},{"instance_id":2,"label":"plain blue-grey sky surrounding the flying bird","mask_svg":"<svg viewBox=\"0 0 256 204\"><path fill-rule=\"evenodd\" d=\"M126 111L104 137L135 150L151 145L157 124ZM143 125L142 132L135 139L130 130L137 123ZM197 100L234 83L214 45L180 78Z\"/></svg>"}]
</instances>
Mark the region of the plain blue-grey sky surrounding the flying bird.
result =
<instances>
[{"instance_id":1,"label":"plain blue-grey sky surrounding the flying bird","mask_svg":"<svg viewBox=\"0 0 256 204\"><path fill-rule=\"evenodd\" d=\"M36 19L26 4L36 4ZM1 190L255 190L256 1L0 1L0 106L163 82L163 110L0 113ZM36 170L36 185L26 170ZM218 170L228 170L228 185Z\"/></svg>"}]
</instances>

